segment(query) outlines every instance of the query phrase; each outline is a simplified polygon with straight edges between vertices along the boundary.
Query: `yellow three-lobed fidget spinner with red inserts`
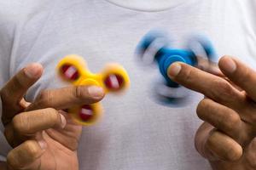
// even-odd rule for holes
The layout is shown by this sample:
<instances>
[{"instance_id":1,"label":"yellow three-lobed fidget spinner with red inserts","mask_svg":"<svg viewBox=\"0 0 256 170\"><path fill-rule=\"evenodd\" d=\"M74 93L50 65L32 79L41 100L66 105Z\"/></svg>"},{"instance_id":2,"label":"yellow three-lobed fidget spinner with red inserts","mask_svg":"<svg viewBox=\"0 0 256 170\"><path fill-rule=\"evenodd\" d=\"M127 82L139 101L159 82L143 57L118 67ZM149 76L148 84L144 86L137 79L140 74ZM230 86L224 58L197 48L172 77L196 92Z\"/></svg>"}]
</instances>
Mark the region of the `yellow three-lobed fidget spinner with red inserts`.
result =
<instances>
[{"instance_id":1,"label":"yellow three-lobed fidget spinner with red inserts","mask_svg":"<svg viewBox=\"0 0 256 170\"><path fill-rule=\"evenodd\" d=\"M87 68L85 60L75 54L61 59L57 65L57 71L66 82L71 82L75 86L100 86L106 94L123 91L130 85L129 76L121 65L108 64L101 73L94 74ZM102 116L102 106L99 102L92 105L79 105L69 109L68 112L75 122L89 126Z\"/></svg>"}]
</instances>

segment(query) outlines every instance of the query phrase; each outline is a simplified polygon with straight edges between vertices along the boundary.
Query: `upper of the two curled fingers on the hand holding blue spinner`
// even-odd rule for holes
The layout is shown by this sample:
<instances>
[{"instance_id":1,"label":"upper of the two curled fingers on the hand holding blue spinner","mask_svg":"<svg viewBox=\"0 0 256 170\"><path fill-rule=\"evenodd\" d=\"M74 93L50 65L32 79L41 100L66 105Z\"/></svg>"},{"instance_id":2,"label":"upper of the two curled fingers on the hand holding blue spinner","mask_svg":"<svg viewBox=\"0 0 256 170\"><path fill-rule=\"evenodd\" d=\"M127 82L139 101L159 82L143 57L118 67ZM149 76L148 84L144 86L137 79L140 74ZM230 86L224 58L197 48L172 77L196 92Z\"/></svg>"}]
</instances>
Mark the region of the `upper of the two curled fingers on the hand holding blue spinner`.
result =
<instances>
[{"instance_id":1,"label":"upper of the two curled fingers on the hand holding blue spinner","mask_svg":"<svg viewBox=\"0 0 256 170\"><path fill-rule=\"evenodd\" d=\"M236 111L220 105L212 99L202 99L197 106L196 113L201 120L210 123L236 141L243 142L240 140L245 138L242 133L245 125Z\"/></svg>"}]
</instances>

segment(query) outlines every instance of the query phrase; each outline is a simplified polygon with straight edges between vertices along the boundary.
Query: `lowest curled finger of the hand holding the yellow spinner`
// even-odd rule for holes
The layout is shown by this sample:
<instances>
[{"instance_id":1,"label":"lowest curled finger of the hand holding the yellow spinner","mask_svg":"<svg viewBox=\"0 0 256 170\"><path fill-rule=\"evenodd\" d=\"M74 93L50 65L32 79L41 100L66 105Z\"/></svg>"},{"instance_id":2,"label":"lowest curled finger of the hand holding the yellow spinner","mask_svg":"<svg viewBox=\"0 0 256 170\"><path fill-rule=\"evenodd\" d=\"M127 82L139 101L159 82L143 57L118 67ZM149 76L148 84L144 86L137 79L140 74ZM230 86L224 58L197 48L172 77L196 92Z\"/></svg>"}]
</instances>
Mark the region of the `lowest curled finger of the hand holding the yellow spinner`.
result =
<instances>
[{"instance_id":1,"label":"lowest curled finger of the hand holding the yellow spinner","mask_svg":"<svg viewBox=\"0 0 256 170\"><path fill-rule=\"evenodd\" d=\"M45 148L45 142L27 140L9 152L7 163L13 169L38 169Z\"/></svg>"}]
</instances>

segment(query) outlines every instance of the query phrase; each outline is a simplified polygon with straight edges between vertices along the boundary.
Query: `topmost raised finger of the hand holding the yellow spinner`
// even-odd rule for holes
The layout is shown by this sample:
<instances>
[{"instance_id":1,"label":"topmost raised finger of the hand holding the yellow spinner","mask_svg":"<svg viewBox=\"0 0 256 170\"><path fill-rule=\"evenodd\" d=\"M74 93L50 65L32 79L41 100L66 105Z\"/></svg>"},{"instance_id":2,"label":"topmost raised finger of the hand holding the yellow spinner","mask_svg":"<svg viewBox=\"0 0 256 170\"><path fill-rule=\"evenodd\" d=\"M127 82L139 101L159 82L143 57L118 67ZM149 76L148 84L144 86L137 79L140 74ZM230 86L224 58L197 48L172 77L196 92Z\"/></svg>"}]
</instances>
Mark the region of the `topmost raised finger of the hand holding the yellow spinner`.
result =
<instances>
[{"instance_id":1,"label":"topmost raised finger of the hand holding the yellow spinner","mask_svg":"<svg viewBox=\"0 0 256 170\"><path fill-rule=\"evenodd\" d=\"M23 98L24 94L26 94L27 89L38 81L42 73L42 65L28 65L18 72L15 77L10 79L1 89L0 94L3 102L3 113L8 113L8 115L3 115L4 122L8 122L9 119L15 116L15 113L24 109L22 108L24 105L20 105L20 100Z\"/></svg>"}]
</instances>

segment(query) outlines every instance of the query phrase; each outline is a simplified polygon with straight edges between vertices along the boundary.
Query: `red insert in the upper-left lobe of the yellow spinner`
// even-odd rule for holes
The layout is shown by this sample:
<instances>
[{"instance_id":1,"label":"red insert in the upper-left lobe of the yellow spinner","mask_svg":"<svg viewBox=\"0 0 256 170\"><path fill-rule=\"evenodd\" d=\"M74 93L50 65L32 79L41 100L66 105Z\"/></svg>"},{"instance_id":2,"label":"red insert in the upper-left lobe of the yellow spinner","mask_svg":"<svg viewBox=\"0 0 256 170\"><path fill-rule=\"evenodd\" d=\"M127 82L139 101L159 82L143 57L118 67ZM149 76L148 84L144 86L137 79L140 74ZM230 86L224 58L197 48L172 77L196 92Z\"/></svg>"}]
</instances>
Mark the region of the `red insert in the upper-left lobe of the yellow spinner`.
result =
<instances>
[{"instance_id":1,"label":"red insert in the upper-left lobe of the yellow spinner","mask_svg":"<svg viewBox=\"0 0 256 170\"><path fill-rule=\"evenodd\" d=\"M61 73L67 80L75 81L79 79L79 71L73 65L63 65L61 67Z\"/></svg>"}]
</instances>

